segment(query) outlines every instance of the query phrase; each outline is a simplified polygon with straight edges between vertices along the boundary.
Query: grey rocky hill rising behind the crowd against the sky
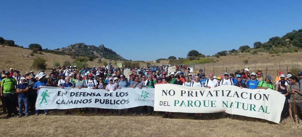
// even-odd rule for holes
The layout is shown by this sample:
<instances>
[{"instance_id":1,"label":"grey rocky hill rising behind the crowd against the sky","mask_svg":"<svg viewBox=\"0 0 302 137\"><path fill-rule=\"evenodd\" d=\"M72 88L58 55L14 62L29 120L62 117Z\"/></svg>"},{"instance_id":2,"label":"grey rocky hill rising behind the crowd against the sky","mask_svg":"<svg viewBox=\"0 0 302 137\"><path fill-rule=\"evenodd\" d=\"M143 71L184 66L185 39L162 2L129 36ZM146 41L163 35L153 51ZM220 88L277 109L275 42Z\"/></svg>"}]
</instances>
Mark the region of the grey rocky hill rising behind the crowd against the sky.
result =
<instances>
[{"instance_id":1,"label":"grey rocky hill rising behind the crowd against the sky","mask_svg":"<svg viewBox=\"0 0 302 137\"><path fill-rule=\"evenodd\" d=\"M115 53L115 51L106 48L103 44L97 47L94 45L86 45L84 43L76 43L61 49L55 49L55 51L65 53L67 55L75 54L76 56L83 56L83 57L88 55L94 55L97 58L124 60L123 57Z\"/></svg>"}]
</instances>

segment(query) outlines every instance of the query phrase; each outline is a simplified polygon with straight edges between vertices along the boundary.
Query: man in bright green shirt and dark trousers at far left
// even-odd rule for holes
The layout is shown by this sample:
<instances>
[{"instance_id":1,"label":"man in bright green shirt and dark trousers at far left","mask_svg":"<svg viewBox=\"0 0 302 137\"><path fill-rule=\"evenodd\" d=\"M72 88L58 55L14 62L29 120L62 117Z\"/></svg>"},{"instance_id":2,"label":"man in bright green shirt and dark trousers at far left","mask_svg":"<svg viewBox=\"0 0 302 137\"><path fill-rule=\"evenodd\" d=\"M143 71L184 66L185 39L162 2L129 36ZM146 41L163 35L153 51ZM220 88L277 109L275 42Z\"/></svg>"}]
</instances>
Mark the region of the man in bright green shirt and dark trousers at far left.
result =
<instances>
[{"instance_id":1,"label":"man in bright green shirt and dark trousers at far left","mask_svg":"<svg viewBox=\"0 0 302 137\"><path fill-rule=\"evenodd\" d=\"M1 98L5 101L8 115L6 117L11 117L14 113L14 117L17 116L18 112L16 109L16 94L15 86L17 86L16 79L9 77L9 71L5 72L5 78L1 80Z\"/></svg>"}]
</instances>

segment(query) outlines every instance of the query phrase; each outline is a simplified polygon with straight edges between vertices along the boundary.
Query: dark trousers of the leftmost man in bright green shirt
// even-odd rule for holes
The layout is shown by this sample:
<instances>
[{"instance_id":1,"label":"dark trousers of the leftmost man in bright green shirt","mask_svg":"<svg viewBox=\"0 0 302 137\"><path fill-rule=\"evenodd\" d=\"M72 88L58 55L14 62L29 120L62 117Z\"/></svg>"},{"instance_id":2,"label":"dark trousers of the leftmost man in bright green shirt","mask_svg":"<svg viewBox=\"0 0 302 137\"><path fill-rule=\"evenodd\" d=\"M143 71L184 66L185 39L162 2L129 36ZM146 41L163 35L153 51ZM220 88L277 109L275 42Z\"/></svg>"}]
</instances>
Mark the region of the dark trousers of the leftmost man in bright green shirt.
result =
<instances>
[{"instance_id":1,"label":"dark trousers of the leftmost man in bright green shirt","mask_svg":"<svg viewBox=\"0 0 302 137\"><path fill-rule=\"evenodd\" d=\"M15 92L11 93L4 93L3 99L6 104L8 115L12 115L14 113L15 115L18 114L17 106L16 106L16 94Z\"/></svg>"}]
</instances>

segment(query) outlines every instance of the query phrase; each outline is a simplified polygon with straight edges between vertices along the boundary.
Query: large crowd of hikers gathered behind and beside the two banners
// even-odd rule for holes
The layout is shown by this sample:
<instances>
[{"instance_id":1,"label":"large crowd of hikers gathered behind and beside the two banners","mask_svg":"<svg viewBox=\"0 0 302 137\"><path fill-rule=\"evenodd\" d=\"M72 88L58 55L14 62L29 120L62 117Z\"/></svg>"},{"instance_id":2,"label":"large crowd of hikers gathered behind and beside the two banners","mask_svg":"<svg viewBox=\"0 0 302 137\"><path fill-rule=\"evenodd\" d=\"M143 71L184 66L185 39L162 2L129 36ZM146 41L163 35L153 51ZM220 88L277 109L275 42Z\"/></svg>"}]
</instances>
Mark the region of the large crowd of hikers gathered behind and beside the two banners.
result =
<instances>
[{"instance_id":1,"label":"large crowd of hikers gathered behind and beside the two banners","mask_svg":"<svg viewBox=\"0 0 302 137\"><path fill-rule=\"evenodd\" d=\"M158 65L131 68L130 72L123 74L123 68L109 68L101 66L96 68L76 66L63 66L57 69L51 69L49 73L40 70L37 73L33 71L26 72L21 75L18 70L10 68L9 71L1 71L1 101L3 113L7 113L6 118L22 117L29 115L39 115L44 112L48 114L48 110L36 110L35 104L40 86L51 87L71 87L71 88L92 88L103 89L106 91L115 91L125 87L132 88L154 88L155 84L178 84L190 87L207 87L214 88L220 85L234 85L240 88L249 89L272 89L286 97L281 118L290 117L293 119L293 108L296 107L298 117L301 118L302 110L302 72L291 74L280 71L279 75L272 79L270 75L262 73L261 69L251 72L248 68L236 70L234 73L224 73L223 75L214 76L213 73L206 74L199 69L197 74L191 74L187 65L174 65L175 71L168 74L168 67L171 65ZM295 76L295 75L298 75ZM295 98L293 98L295 94ZM293 105L295 101L295 106ZM19 105L17 105L19 104ZM17 111L19 109L19 111ZM23 113L24 111L24 113ZM153 107L140 106L124 110L112 110L101 108L79 108L78 114L85 113L116 113L117 115L128 115L132 111L133 115L154 114ZM162 113L162 112L160 112ZM67 109L65 114L71 114L71 110ZM214 114L211 115L215 116ZM173 118L171 112L164 112L164 118ZM203 119L202 114L194 114L194 119Z\"/></svg>"}]
</instances>

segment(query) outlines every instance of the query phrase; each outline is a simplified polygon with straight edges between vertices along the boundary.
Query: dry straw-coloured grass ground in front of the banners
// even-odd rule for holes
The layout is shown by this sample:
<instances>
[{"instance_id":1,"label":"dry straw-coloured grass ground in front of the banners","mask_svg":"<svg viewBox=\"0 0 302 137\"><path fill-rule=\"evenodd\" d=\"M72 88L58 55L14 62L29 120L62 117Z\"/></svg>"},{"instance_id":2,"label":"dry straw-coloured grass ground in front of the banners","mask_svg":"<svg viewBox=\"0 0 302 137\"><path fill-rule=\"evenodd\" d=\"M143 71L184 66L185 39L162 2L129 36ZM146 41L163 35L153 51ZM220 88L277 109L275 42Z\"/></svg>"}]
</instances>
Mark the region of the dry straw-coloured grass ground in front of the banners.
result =
<instances>
[{"instance_id":1,"label":"dry straw-coloured grass ground in front of the banners","mask_svg":"<svg viewBox=\"0 0 302 137\"><path fill-rule=\"evenodd\" d=\"M2 110L1 110L2 112ZM132 113L131 113L132 114ZM193 120L186 114L117 116L115 114L64 115L52 110L49 115L4 119L0 116L1 136L295 136L302 135L301 125L286 119L280 124L262 119L234 116ZM206 115L206 114L205 114Z\"/></svg>"}]
</instances>

